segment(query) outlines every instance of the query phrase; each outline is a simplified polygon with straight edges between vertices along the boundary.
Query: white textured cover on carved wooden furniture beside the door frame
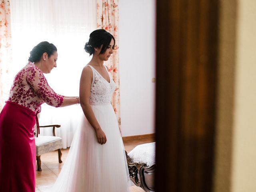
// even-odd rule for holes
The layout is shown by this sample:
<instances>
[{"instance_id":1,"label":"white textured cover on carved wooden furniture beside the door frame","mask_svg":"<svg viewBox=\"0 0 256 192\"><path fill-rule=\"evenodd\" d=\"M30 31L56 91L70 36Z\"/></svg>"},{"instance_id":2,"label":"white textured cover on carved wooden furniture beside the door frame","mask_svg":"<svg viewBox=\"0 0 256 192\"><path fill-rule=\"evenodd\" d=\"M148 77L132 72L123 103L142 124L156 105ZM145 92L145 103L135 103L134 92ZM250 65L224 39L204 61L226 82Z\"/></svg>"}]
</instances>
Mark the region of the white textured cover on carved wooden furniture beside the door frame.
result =
<instances>
[{"instance_id":1,"label":"white textured cover on carved wooden furniture beside the door frame","mask_svg":"<svg viewBox=\"0 0 256 192\"><path fill-rule=\"evenodd\" d=\"M147 166L152 166L156 163L156 142L138 145L128 153L128 156L133 162L146 163Z\"/></svg>"}]
</instances>

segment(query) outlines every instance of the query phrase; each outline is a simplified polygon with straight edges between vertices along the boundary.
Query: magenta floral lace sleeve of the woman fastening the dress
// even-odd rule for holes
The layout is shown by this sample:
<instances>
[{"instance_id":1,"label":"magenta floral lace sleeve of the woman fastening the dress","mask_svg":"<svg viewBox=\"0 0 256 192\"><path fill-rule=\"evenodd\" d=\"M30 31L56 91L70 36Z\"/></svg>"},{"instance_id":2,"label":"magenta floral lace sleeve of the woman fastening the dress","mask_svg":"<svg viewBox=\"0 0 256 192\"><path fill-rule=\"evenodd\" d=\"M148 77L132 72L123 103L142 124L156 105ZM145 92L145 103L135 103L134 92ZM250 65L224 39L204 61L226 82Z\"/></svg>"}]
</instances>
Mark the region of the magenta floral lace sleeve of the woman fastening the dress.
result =
<instances>
[{"instance_id":1,"label":"magenta floral lace sleeve of the woman fastening the dress","mask_svg":"<svg viewBox=\"0 0 256 192\"><path fill-rule=\"evenodd\" d=\"M50 88L42 71L36 66L31 66L27 68L27 70L26 80L38 97L50 106L59 107L63 102L63 96L56 94L54 90Z\"/></svg>"}]
</instances>

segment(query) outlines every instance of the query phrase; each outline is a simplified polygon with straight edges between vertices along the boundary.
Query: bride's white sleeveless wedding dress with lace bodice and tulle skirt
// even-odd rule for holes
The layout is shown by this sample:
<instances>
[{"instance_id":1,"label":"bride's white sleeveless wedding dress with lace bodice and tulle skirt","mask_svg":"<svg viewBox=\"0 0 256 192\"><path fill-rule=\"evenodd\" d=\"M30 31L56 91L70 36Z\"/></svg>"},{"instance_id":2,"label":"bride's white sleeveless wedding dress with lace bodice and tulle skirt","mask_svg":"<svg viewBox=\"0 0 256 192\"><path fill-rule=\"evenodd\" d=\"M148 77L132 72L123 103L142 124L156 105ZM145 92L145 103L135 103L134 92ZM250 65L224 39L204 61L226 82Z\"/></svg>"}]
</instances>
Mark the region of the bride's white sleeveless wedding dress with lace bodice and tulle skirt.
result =
<instances>
[{"instance_id":1,"label":"bride's white sleeveless wedding dress with lace bodice and tulle skirt","mask_svg":"<svg viewBox=\"0 0 256 192\"><path fill-rule=\"evenodd\" d=\"M107 82L90 66L93 80L90 104L106 134L106 144L97 142L94 128L85 116L76 130L68 156L52 192L128 192L129 174L124 144L111 105L115 82Z\"/></svg>"}]
</instances>

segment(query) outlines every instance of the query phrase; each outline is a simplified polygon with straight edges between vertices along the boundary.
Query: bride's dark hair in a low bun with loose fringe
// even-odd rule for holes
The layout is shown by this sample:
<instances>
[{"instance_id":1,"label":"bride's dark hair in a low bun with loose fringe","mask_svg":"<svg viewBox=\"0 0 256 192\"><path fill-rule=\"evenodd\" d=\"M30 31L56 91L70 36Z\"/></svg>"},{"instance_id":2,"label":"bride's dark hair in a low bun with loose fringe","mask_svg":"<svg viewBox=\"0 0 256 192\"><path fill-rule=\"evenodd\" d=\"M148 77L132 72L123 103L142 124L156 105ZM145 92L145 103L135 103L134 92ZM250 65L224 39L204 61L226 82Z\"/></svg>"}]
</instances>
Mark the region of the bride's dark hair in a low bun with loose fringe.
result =
<instances>
[{"instance_id":1,"label":"bride's dark hair in a low bun with loose fringe","mask_svg":"<svg viewBox=\"0 0 256 192\"><path fill-rule=\"evenodd\" d=\"M94 48L100 48L102 46L100 54L104 54L112 39L114 40L112 47L114 49L116 44L114 36L104 29L97 29L90 34L89 41L85 44L84 50L91 56L94 54Z\"/></svg>"}]
</instances>

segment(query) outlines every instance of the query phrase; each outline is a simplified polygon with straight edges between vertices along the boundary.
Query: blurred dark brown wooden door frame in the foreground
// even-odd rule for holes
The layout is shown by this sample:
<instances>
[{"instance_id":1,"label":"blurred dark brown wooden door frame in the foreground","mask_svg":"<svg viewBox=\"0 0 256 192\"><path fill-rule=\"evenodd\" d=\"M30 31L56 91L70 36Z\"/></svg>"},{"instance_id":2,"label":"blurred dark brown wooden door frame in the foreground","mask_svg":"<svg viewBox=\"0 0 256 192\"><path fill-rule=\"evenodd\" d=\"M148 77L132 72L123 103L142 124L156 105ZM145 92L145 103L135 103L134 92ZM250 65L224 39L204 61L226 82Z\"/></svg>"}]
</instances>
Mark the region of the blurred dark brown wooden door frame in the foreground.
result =
<instances>
[{"instance_id":1,"label":"blurred dark brown wooden door frame in the foreground","mask_svg":"<svg viewBox=\"0 0 256 192\"><path fill-rule=\"evenodd\" d=\"M157 1L156 191L210 192L218 1Z\"/></svg>"}]
</instances>

